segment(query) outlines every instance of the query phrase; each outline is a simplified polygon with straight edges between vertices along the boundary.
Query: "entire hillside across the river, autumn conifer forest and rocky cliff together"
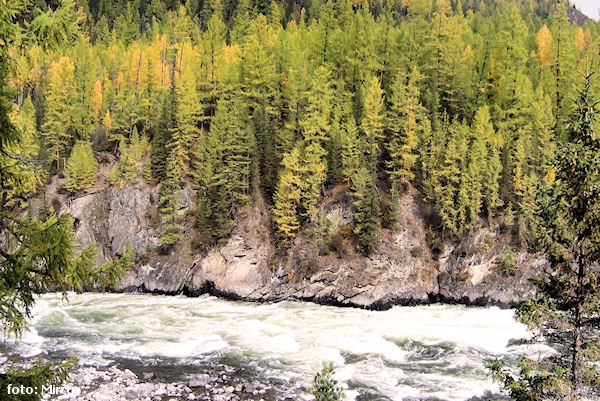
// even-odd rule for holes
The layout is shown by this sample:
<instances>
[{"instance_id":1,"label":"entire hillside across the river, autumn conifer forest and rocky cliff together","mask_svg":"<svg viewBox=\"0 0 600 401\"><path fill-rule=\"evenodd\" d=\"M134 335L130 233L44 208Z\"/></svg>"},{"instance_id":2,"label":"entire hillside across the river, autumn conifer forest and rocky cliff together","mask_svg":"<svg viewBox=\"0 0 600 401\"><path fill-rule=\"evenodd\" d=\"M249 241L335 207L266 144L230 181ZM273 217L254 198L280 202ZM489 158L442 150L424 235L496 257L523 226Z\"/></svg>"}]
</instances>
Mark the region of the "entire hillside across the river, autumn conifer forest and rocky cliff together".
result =
<instances>
[{"instance_id":1,"label":"entire hillside across the river, autumn conifer forest and rocky cliff together","mask_svg":"<svg viewBox=\"0 0 600 401\"><path fill-rule=\"evenodd\" d=\"M12 150L35 163L5 204L70 214L98 263L131 247L121 290L532 294L536 191L598 63L600 28L572 7L63 0L29 21L36 41L5 45Z\"/></svg>"}]
</instances>

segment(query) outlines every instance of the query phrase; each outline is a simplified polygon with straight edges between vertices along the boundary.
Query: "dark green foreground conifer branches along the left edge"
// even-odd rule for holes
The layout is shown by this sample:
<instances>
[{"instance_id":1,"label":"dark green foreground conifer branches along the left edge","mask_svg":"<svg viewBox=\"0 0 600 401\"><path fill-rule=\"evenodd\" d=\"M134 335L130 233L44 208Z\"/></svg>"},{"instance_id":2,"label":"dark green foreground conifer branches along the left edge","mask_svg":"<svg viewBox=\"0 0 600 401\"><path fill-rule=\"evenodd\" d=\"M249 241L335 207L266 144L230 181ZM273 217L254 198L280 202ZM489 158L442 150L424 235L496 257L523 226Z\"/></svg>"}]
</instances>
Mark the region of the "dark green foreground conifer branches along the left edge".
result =
<instances>
[{"instance_id":1,"label":"dark green foreground conifer branches along the left edge","mask_svg":"<svg viewBox=\"0 0 600 401\"><path fill-rule=\"evenodd\" d=\"M91 288L99 282L115 285L122 271L131 264L129 255L116 263L115 269L111 264L94 270L96 249L94 246L81 249L76 245L73 220L69 216L52 214L36 218L11 207L13 198L24 200L30 195L30 172L40 168L36 160L21 151L27 135L9 116L14 99L9 85L9 76L13 73L9 46L35 39L24 35L16 22L27 5L26 1L7 0L0 6L0 326L5 333L13 335L27 329L36 296L48 291L62 291L66 296L67 290ZM62 24L71 21L73 2L65 0L62 5L64 7L42 14L32 23L34 34L48 46L61 45L77 30L68 26L63 32ZM83 149L83 159L88 157L89 144L80 143L75 149L78 146ZM56 149L60 155L60 149ZM79 154L79 150L74 153ZM93 154L91 157L93 159ZM78 169L72 169L73 173L76 171ZM95 174L93 178L95 180ZM6 389L8 383L32 387L58 385L73 363L69 360L55 366L40 362L25 370L9 364L8 372L0 375L0 387ZM13 399L11 397L5 390L0 395L1 400ZM39 394L21 399L37 400Z\"/></svg>"}]
</instances>

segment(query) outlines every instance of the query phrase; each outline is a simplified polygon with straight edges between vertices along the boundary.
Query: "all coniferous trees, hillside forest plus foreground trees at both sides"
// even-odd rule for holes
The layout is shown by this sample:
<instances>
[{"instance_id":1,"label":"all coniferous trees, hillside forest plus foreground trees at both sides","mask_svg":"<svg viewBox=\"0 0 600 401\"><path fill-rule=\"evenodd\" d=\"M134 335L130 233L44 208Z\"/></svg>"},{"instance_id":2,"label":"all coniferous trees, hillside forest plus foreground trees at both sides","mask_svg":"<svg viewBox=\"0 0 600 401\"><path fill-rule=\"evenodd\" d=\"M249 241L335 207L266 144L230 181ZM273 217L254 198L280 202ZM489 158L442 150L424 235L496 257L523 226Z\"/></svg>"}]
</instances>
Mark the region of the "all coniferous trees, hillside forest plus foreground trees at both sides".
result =
<instances>
[{"instance_id":1,"label":"all coniferous trees, hillside forest plus foreground trees at both sides","mask_svg":"<svg viewBox=\"0 0 600 401\"><path fill-rule=\"evenodd\" d=\"M597 358L597 331L584 326L597 325L590 316L599 308L600 25L573 5L0 3L0 231L14 237L0 241L10 250L0 254L0 290L11 293L27 269L41 275L2 296L3 304L14 307L17 299L26 309L2 312L12 330L25 328L33 294L57 283L114 284L133 263L126 254L92 273L93 249L75 256L72 221L54 216L51 205L45 213L52 221L16 217L52 176L66 178L72 196L94 187L107 164L108 185L157 185L163 254L190 221L199 249L222 243L236 213L259 198L276 247L286 249L316 224L326 191L340 187L352 203L352 244L369 255L380 229L396 227L395 201L410 189L430 206L437 237L458 239L501 219L517 247L546 251L551 266L565 271L538 281L544 296L518 314L568 344L566 359L522 365L520 379L489 364L513 398L578 397L579 389L598 386L597 369L586 362ZM186 186L197 207L182 218ZM43 250L11 253L35 248L42 237L65 241L58 265ZM35 270L40 265L45 275ZM14 268L10 275L6 266ZM567 339L557 334L561 319L574 327ZM532 370L546 376L536 381Z\"/></svg>"}]
</instances>

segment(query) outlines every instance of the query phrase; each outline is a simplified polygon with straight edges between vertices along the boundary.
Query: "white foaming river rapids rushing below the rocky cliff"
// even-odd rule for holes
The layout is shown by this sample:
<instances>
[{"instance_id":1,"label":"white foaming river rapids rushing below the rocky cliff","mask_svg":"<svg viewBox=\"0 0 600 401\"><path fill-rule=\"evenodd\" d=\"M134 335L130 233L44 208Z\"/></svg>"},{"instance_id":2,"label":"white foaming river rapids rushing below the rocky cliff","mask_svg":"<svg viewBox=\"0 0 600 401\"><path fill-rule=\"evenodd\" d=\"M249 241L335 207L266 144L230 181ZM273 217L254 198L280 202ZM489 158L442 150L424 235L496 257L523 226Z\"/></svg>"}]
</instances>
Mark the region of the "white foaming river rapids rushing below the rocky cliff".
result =
<instances>
[{"instance_id":1,"label":"white foaming river rapids rushing below the rocky cliff","mask_svg":"<svg viewBox=\"0 0 600 401\"><path fill-rule=\"evenodd\" d=\"M87 364L181 380L224 364L293 399L305 398L314 371L331 361L349 398L468 400L498 391L485 359L510 363L532 352L511 345L527 335L512 316L447 305L376 312L125 294L71 294L65 303L49 294L37 302L32 330L10 348L22 356L75 352Z\"/></svg>"}]
</instances>

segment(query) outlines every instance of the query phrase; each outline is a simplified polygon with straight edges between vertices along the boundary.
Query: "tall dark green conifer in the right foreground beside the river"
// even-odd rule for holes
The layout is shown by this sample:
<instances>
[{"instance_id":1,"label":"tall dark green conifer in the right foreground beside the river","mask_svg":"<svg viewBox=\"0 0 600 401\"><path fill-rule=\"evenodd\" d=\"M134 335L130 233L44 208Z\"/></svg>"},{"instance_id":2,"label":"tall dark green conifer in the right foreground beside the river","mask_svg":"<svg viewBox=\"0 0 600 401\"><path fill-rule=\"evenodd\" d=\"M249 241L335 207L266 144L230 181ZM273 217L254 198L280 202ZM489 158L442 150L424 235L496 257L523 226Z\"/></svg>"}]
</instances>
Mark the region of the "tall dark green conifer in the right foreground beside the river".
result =
<instances>
[{"instance_id":1,"label":"tall dark green conifer in the right foreground beside the river","mask_svg":"<svg viewBox=\"0 0 600 401\"><path fill-rule=\"evenodd\" d=\"M568 142L554 159L556 180L540 186L537 234L551 271L535 281L540 297L516 315L557 353L524 359L516 376L498 362L488 364L518 401L579 400L600 391L600 139L593 76L578 90Z\"/></svg>"}]
</instances>

